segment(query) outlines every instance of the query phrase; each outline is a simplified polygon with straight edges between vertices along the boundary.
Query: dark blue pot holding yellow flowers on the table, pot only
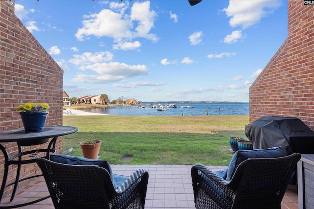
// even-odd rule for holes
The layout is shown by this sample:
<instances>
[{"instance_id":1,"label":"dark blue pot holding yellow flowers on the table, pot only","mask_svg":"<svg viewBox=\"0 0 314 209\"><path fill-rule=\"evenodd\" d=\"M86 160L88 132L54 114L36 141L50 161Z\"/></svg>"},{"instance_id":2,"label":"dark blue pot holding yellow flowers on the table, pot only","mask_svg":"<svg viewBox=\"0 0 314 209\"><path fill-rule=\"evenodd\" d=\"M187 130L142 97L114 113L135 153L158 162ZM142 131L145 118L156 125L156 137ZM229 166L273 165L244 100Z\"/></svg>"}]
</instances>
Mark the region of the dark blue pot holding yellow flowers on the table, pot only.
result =
<instances>
[{"instance_id":1,"label":"dark blue pot holding yellow flowers on the table, pot only","mask_svg":"<svg viewBox=\"0 0 314 209\"><path fill-rule=\"evenodd\" d=\"M46 112L20 112L25 132L41 132L48 116Z\"/></svg>"}]
</instances>

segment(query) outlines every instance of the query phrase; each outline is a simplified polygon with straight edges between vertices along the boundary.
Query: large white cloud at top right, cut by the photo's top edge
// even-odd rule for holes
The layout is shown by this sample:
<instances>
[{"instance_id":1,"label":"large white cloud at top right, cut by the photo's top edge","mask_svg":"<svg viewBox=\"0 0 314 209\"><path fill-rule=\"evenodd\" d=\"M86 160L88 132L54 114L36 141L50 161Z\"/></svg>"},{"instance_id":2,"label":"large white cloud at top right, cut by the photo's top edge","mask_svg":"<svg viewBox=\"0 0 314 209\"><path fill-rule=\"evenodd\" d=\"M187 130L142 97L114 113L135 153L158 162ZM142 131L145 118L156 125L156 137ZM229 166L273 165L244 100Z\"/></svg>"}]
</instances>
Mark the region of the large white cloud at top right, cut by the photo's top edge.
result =
<instances>
[{"instance_id":1,"label":"large white cloud at top right, cut by the photo's top edge","mask_svg":"<svg viewBox=\"0 0 314 209\"><path fill-rule=\"evenodd\" d=\"M247 28L261 21L281 5L280 0L230 0L228 8L222 11L231 17L232 27Z\"/></svg>"}]
</instances>

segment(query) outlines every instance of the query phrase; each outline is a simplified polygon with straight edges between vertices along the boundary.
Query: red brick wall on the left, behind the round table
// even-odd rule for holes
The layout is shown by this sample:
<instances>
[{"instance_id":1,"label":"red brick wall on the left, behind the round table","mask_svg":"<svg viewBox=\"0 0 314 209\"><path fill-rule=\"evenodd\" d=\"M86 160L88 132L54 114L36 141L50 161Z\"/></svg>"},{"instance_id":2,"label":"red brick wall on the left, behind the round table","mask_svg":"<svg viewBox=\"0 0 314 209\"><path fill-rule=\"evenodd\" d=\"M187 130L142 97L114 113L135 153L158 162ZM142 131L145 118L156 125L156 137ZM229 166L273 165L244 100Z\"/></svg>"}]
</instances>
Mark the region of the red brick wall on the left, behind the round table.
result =
<instances>
[{"instance_id":1,"label":"red brick wall on the left, behind the round table","mask_svg":"<svg viewBox=\"0 0 314 209\"><path fill-rule=\"evenodd\" d=\"M0 9L0 131L23 127L16 108L27 102L48 103L50 109L45 126L62 125L63 70L14 15L14 5L1 0ZM15 142L1 144L5 145L9 155L17 153ZM47 144L32 146L36 147L44 148ZM60 153L62 139L58 139L56 147ZM25 147L23 151L29 148ZM0 153L0 184L3 164L4 157ZM9 183L15 172L16 166L11 166ZM22 166L21 177L34 173L39 173L35 163ZM5 194L11 190L7 188Z\"/></svg>"}]
</instances>

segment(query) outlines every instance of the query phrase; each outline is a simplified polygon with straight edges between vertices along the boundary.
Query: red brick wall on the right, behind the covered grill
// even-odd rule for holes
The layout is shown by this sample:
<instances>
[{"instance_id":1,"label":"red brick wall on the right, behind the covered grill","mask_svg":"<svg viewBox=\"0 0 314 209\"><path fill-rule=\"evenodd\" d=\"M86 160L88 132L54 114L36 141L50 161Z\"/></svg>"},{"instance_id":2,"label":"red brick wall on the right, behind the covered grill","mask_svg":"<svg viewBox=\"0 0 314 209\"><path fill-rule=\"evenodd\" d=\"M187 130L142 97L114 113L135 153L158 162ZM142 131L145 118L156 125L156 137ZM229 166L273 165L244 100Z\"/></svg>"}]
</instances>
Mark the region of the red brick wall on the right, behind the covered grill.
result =
<instances>
[{"instance_id":1,"label":"red brick wall on the right, behind the covered grill","mask_svg":"<svg viewBox=\"0 0 314 209\"><path fill-rule=\"evenodd\" d=\"M314 130L314 6L288 0L288 38L250 87L250 123L293 116Z\"/></svg>"}]
</instances>

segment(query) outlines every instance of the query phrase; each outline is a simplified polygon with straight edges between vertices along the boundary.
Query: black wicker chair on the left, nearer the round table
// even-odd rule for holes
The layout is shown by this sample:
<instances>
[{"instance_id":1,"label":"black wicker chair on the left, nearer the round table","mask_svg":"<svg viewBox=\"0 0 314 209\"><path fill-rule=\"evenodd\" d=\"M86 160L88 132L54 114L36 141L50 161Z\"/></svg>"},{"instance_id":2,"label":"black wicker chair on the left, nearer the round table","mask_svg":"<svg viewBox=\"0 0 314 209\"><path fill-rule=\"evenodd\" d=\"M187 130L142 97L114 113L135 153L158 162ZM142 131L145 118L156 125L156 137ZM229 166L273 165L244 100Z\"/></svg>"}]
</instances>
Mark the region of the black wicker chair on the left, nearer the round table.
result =
<instances>
[{"instance_id":1,"label":"black wicker chair on the left, nearer the round table","mask_svg":"<svg viewBox=\"0 0 314 209\"><path fill-rule=\"evenodd\" d=\"M98 165L70 165L44 158L43 172L56 209L144 209L148 172L138 169L117 189Z\"/></svg>"}]
</instances>

